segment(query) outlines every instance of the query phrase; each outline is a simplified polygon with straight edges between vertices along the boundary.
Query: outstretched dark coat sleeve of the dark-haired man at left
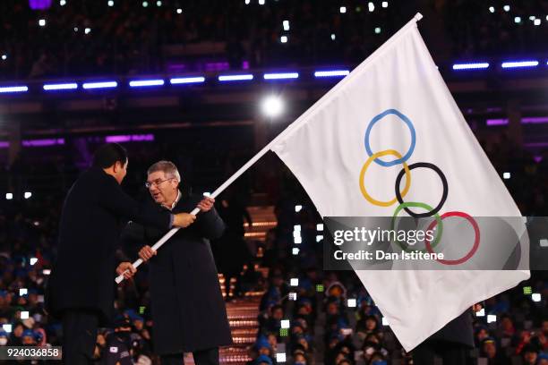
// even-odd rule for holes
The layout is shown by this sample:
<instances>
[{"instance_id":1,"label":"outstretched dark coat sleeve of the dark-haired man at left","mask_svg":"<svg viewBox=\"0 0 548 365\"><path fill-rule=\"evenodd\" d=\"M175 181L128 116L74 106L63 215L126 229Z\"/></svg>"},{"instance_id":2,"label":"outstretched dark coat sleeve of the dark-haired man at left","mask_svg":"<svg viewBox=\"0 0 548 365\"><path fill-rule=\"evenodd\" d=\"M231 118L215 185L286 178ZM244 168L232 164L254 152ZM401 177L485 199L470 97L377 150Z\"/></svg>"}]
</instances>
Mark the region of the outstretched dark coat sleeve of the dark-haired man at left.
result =
<instances>
[{"instance_id":1,"label":"outstretched dark coat sleeve of the dark-haired man at left","mask_svg":"<svg viewBox=\"0 0 548 365\"><path fill-rule=\"evenodd\" d=\"M159 229L168 229L171 225L171 213L150 209L127 195L114 178L107 179L99 194L98 203L116 216L133 220L141 225L152 225Z\"/></svg>"}]
</instances>

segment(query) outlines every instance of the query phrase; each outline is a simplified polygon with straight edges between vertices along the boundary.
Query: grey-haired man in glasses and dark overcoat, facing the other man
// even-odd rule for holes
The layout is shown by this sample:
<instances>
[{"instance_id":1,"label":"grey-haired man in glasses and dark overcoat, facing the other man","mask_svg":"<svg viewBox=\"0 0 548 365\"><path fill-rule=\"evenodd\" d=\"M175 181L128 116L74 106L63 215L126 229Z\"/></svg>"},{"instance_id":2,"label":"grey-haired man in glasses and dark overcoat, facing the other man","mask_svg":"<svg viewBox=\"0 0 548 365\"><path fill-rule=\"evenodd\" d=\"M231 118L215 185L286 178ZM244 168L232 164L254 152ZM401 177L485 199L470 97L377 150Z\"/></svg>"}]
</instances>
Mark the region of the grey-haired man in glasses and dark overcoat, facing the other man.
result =
<instances>
[{"instance_id":1,"label":"grey-haired man in glasses and dark overcoat, facing the other man","mask_svg":"<svg viewBox=\"0 0 548 365\"><path fill-rule=\"evenodd\" d=\"M132 223L123 240L150 265L152 338L162 365L182 364L184 352L193 352L197 365L218 364L218 347L232 344L232 336L209 240L220 237L225 225L213 208L214 199L184 192L180 182L173 163L150 166L146 186L152 199L144 204L173 213L198 207L194 224L179 230L158 251L150 246L167 229Z\"/></svg>"}]
</instances>

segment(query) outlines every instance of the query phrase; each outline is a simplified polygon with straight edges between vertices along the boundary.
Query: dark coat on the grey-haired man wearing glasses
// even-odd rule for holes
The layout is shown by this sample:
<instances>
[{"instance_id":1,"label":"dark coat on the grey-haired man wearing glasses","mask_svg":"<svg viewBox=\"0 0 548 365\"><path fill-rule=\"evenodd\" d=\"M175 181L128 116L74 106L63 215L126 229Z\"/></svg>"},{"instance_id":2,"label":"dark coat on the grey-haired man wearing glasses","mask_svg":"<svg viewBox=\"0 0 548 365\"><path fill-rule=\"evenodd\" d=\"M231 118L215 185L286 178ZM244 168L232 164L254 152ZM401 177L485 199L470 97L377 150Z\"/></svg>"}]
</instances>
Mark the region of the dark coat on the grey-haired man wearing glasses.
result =
<instances>
[{"instance_id":1,"label":"dark coat on the grey-haired man wearing glasses","mask_svg":"<svg viewBox=\"0 0 548 365\"><path fill-rule=\"evenodd\" d=\"M173 213L191 212L200 196L184 194ZM158 211L167 211L147 199ZM225 224L215 208L199 213L193 225L179 230L149 260L150 307L155 352L193 352L232 344L227 309L218 283L211 239L222 235ZM133 252L150 247L167 233L130 224L123 234Z\"/></svg>"}]
</instances>

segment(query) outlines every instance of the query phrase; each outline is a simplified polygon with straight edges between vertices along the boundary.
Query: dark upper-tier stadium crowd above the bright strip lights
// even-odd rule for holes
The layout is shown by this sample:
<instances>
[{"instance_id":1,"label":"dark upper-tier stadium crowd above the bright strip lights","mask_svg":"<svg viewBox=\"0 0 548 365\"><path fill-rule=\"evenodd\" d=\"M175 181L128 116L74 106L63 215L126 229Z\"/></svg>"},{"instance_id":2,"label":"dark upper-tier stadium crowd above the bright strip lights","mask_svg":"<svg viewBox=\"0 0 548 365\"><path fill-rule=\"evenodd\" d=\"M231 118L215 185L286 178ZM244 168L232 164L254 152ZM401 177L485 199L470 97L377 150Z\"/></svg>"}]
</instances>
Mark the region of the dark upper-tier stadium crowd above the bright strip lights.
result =
<instances>
[{"instance_id":1,"label":"dark upper-tier stadium crowd above the bright strip lights","mask_svg":"<svg viewBox=\"0 0 548 365\"><path fill-rule=\"evenodd\" d=\"M548 36L543 1L51 3L44 10L26 1L0 4L0 78L353 66L421 7L443 21L430 33L440 38L433 47L447 49L433 55L530 55L545 51Z\"/></svg>"}]
</instances>

